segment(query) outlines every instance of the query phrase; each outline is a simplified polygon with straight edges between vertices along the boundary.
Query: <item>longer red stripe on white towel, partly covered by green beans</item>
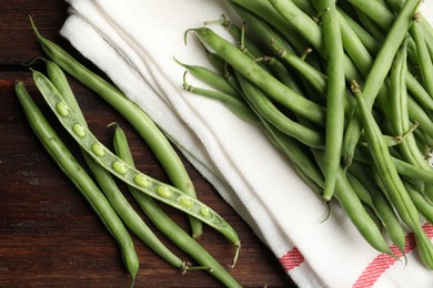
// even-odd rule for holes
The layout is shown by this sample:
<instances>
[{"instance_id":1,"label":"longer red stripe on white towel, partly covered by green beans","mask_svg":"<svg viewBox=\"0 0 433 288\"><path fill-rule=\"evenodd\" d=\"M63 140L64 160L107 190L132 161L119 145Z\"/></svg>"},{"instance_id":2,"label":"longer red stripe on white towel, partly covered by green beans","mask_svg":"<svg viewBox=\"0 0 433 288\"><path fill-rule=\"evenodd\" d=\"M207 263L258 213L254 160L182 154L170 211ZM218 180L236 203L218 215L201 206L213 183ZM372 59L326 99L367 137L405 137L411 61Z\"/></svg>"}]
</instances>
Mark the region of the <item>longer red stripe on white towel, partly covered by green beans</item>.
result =
<instances>
[{"instance_id":1,"label":"longer red stripe on white towel, partly covered by green beans","mask_svg":"<svg viewBox=\"0 0 433 288\"><path fill-rule=\"evenodd\" d=\"M426 233L429 238L433 237L433 225L427 223L423 225L423 229ZM406 244L404 246L404 253L410 253L416 247L414 235L407 234ZM396 256L402 257L403 254L400 249L392 245L392 253ZM358 278L356 282L353 285L353 288L367 288L372 287L377 279L391 267L395 264L396 259L387 254L380 254L376 258L365 268L360 278Z\"/></svg>"}]
</instances>

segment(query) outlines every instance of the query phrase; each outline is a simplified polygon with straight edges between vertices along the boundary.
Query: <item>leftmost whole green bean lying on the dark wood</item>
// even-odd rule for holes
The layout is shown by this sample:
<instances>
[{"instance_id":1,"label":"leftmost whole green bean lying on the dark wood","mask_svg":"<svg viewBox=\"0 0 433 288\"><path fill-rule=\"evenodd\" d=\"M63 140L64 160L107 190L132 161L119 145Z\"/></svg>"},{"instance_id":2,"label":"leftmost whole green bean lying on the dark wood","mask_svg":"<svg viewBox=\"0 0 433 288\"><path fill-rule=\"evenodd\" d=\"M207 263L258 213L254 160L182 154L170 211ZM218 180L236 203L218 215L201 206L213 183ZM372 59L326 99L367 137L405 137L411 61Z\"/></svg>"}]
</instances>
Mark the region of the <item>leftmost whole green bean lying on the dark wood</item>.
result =
<instances>
[{"instance_id":1,"label":"leftmost whole green bean lying on the dark wood","mask_svg":"<svg viewBox=\"0 0 433 288\"><path fill-rule=\"evenodd\" d=\"M21 81L16 84L16 93L21 102L31 128L37 134L44 148L53 157L63 173L71 179L73 185L85 197L102 223L105 225L107 229L115 238L122 253L122 259L132 277L133 284L139 269L139 259L132 239L123 223L112 209L102 192L87 174L85 169L81 167L75 157L59 138L54 130L28 94L27 89Z\"/></svg>"}]
</instances>

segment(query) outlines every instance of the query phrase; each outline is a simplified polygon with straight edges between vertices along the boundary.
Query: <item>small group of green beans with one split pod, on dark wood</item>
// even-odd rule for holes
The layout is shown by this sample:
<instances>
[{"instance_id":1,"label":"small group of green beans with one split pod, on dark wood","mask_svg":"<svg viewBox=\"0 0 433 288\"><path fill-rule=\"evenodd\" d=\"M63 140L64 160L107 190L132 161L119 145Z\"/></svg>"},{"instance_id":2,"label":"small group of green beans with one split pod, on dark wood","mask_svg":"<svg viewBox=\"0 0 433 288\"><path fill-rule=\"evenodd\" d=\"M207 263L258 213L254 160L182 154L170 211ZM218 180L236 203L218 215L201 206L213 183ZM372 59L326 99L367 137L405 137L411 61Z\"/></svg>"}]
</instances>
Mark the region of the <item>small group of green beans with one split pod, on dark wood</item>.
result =
<instances>
[{"instance_id":1,"label":"small group of green beans with one split pod, on dark wood","mask_svg":"<svg viewBox=\"0 0 433 288\"><path fill-rule=\"evenodd\" d=\"M32 25L49 58L40 58L46 63L46 74L32 69L32 84L36 85L63 128L75 140L87 167L79 164L77 155L73 155L57 135L53 126L36 105L22 81L17 82L16 93L30 126L47 152L87 198L118 241L125 268L131 275L131 286L134 284L140 261L129 230L161 259L182 272L205 270L226 287L241 287L231 274L195 240L202 234L202 224L220 232L234 245L233 261L230 264L233 268L240 253L240 238L233 227L216 212L197 199L187 169L165 135L142 110L129 101L115 86L88 70L61 47L43 38L36 29L34 23ZM92 134L64 71L71 72L73 76L95 91L130 121L138 133L149 143L161 165L171 176L173 184L152 178L134 166L127 136L118 124L108 123L109 127L114 126L113 151L115 153ZM87 171L90 173L88 174ZM128 184L133 198L149 219L169 240L194 259L197 265L193 266L190 261L181 259L157 237L129 203L117 181ZM170 205L189 216L191 236L159 207L158 202Z\"/></svg>"}]
</instances>

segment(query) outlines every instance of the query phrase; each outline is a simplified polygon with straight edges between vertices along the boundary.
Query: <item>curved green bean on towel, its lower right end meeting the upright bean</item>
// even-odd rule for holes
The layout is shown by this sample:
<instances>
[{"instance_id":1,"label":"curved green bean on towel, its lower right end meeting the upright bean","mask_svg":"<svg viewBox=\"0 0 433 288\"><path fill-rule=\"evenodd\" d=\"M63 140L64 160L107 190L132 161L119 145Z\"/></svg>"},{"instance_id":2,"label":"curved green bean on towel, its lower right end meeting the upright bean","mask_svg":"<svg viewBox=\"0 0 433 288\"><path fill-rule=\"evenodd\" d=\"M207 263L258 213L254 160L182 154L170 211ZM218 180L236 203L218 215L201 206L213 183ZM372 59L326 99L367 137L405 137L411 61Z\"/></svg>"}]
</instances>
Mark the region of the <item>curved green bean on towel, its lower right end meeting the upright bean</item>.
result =
<instances>
[{"instance_id":1,"label":"curved green bean on towel, its lower right end meeting the upright bean","mask_svg":"<svg viewBox=\"0 0 433 288\"><path fill-rule=\"evenodd\" d=\"M243 75L236 74L238 80L243 89L248 102L260 113L266 121L272 123L281 132L298 138L300 142L311 147L324 148L324 137L321 133L305 127L298 122L285 116L278 107L266 97L266 95L250 83Z\"/></svg>"}]
</instances>

